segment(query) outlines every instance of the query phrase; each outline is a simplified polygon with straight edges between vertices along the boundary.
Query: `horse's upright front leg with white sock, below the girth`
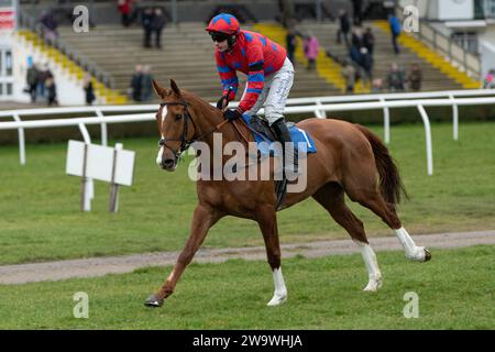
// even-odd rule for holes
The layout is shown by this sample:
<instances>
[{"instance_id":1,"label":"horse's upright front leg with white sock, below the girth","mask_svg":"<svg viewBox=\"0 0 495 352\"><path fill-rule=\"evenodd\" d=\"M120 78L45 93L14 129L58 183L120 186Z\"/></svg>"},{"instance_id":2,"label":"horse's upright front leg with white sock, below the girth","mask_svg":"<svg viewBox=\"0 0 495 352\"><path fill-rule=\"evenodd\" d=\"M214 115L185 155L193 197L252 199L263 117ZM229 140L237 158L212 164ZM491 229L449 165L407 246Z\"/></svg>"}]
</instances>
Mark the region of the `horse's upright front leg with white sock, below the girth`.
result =
<instances>
[{"instance_id":1,"label":"horse's upright front leg with white sock, below the girth","mask_svg":"<svg viewBox=\"0 0 495 352\"><path fill-rule=\"evenodd\" d=\"M287 300L287 288L285 287L284 276L280 267L280 245L278 242L277 218L273 206L262 207L256 213L256 220L263 233L266 246L268 264L272 268L273 283L275 292L268 306L278 306Z\"/></svg>"}]
</instances>

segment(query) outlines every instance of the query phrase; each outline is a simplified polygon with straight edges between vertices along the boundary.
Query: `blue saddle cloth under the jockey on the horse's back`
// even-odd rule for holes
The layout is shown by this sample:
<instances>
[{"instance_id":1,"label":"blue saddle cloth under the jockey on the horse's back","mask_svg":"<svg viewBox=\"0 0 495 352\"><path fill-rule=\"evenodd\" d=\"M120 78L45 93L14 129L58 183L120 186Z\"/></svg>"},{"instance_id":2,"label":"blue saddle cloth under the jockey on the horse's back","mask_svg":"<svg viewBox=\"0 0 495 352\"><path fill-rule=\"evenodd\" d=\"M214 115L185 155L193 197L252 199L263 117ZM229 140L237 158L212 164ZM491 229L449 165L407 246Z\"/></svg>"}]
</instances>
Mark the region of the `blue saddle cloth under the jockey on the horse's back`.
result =
<instances>
[{"instance_id":1,"label":"blue saddle cloth under the jockey on the horse's back","mask_svg":"<svg viewBox=\"0 0 495 352\"><path fill-rule=\"evenodd\" d=\"M242 119L249 127L251 127L251 123L250 123L251 117L250 116L243 114ZM293 139L293 143L295 144L296 147L298 147L300 154L305 155L307 153L316 153L317 152L315 142L312 141L311 136L305 130L297 128L295 124L293 124L293 125L287 124L287 128L289 130L290 138ZM253 133L252 131L251 131L251 134L253 134L254 142L256 142L257 150L260 151L260 153L262 155L278 156L278 150L276 147L274 147L274 141L270 140L268 136L266 136L265 134L263 134L265 136L265 139L260 136L257 133ZM267 141L270 141L270 143Z\"/></svg>"}]
</instances>

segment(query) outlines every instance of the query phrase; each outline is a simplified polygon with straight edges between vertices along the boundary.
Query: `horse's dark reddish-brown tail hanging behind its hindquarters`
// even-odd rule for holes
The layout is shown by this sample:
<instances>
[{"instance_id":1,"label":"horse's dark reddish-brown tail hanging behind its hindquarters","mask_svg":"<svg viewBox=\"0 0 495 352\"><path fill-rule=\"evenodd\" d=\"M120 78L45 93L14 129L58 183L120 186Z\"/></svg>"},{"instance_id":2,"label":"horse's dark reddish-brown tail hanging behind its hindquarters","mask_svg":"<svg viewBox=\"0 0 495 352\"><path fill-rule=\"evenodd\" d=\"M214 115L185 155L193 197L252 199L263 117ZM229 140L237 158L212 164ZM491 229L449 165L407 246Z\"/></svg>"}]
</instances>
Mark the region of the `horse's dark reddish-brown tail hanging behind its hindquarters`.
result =
<instances>
[{"instance_id":1,"label":"horse's dark reddish-brown tail hanging behind its hindquarters","mask_svg":"<svg viewBox=\"0 0 495 352\"><path fill-rule=\"evenodd\" d=\"M402 195L408 198L397 165L378 136L361 124L355 124L355 127L366 136L373 148L376 168L380 174L380 191L385 200L395 208L400 202Z\"/></svg>"}]
</instances>

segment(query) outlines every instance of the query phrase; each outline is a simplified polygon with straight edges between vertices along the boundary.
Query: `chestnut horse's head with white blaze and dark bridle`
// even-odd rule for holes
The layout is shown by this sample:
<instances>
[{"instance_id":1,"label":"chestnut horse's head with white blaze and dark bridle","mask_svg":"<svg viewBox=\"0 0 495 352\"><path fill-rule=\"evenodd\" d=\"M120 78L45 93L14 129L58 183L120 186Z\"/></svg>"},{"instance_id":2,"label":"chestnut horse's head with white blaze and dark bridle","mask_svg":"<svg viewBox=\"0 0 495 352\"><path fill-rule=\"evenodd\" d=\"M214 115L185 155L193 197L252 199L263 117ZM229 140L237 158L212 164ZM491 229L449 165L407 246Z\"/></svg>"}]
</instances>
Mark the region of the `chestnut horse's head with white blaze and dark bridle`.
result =
<instances>
[{"instance_id":1,"label":"chestnut horse's head with white blaze and dark bridle","mask_svg":"<svg viewBox=\"0 0 495 352\"><path fill-rule=\"evenodd\" d=\"M153 80L153 88L162 99L156 112L161 135L156 164L172 172L177 167L180 154L193 143L196 125L187 108L188 105L173 79L170 79L172 89L161 87L155 80Z\"/></svg>"}]
</instances>

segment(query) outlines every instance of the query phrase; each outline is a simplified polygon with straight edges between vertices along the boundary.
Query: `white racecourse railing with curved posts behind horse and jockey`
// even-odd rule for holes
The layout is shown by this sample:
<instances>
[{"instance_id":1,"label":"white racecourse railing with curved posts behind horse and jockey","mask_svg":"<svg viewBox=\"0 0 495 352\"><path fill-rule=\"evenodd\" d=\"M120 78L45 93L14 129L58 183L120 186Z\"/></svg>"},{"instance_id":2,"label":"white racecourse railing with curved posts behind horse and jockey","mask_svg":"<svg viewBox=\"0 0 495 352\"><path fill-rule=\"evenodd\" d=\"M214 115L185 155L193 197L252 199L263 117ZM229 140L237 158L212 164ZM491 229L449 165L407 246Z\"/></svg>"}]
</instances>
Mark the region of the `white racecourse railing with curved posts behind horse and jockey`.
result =
<instances>
[{"instance_id":1,"label":"white racecourse railing with curved posts behind horse and jockey","mask_svg":"<svg viewBox=\"0 0 495 352\"><path fill-rule=\"evenodd\" d=\"M235 107L238 102L231 106ZM359 111L359 110L383 110L384 117L384 141L391 141L389 109L393 108L417 108L425 125L425 141L427 153L427 173L433 174L433 155L431 144L430 121L425 107L452 107L453 139L459 139L459 109L460 106L495 105L495 90L453 90L438 92L418 94L388 94L388 95L363 95L342 97L312 97L288 99L285 109L286 114L312 113L317 118L327 118L329 111ZM146 112L144 112L146 111ZM50 109L25 109L0 111L0 119L11 118L14 121L1 121L0 130L18 130L20 163L25 164L25 129L56 128L77 125L81 131L82 139L90 143L90 136L86 129L88 124L100 124L101 144L107 145L107 124L153 121L157 105L141 106L101 106L101 107L75 107L75 108L50 108ZM128 113L118 116L106 116L106 113ZM129 112L135 112L129 114ZM142 113L136 113L142 112ZM69 113L92 113L92 117L50 119L22 121L21 117L28 116L59 116ZM260 111L263 114L263 110Z\"/></svg>"}]
</instances>

